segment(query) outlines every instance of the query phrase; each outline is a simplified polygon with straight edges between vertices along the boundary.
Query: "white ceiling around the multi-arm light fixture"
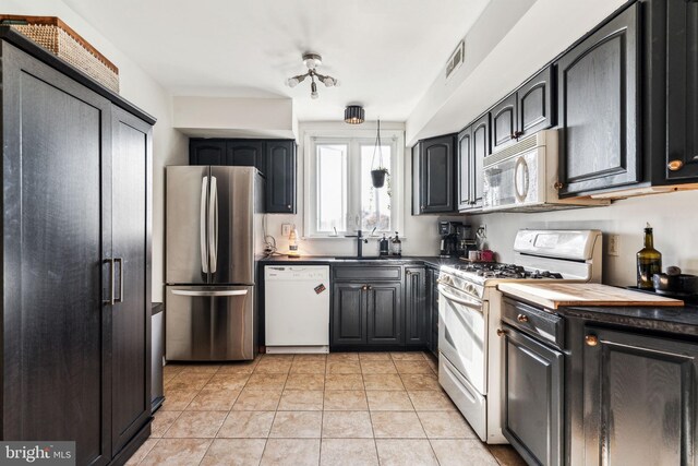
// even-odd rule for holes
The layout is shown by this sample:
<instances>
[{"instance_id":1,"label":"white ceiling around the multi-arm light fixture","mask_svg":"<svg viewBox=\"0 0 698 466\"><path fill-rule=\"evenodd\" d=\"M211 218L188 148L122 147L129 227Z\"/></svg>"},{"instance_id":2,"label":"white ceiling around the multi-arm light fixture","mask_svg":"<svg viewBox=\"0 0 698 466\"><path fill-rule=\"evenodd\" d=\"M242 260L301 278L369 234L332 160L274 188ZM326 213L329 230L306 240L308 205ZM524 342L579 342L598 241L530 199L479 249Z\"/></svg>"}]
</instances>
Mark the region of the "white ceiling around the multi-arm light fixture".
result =
<instances>
[{"instance_id":1,"label":"white ceiling around the multi-arm light fixture","mask_svg":"<svg viewBox=\"0 0 698 466\"><path fill-rule=\"evenodd\" d=\"M490 0L64 0L173 95L291 97L300 121L405 121ZM337 88L285 80L323 56Z\"/></svg>"}]
</instances>

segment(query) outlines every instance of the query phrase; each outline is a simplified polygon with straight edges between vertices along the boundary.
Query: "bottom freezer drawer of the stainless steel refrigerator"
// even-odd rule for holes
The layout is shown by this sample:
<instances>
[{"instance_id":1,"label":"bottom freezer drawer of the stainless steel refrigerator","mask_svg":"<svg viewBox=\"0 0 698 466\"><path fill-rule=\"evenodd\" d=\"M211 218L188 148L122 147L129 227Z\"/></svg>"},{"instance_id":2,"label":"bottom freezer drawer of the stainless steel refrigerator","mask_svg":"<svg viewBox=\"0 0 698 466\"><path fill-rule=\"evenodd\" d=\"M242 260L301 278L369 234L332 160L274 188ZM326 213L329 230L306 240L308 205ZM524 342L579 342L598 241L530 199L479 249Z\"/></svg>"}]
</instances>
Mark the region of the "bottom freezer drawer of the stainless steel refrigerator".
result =
<instances>
[{"instance_id":1,"label":"bottom freezer drawer of the stainless steel refrigerator","mask_svg":"<svg viewBox=\"0 0 698 466\"><path fill-rule=\"evenodd\" d=\"M253 297L252 286L168 286L165 308L166 359L254 359Z\"/></svg>"}]
</instances>

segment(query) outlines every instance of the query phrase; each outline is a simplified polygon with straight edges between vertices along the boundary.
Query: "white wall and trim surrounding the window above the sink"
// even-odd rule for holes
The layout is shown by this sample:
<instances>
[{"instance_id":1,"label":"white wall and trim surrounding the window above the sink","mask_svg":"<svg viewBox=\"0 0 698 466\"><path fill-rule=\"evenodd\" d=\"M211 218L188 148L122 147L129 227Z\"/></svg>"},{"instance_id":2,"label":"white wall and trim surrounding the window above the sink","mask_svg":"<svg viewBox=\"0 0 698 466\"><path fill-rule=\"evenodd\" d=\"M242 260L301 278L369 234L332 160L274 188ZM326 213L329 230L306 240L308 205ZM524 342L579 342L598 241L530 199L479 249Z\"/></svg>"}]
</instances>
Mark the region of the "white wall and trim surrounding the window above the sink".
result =
<instances>
[{"instance_id":1,"label":"white wall and trim surrounding the window above the sink","mask_svg":"<svg viewBox=\"0 0 698 466\"><path fill-rule=\"evenodd\" d=\"M405 130L402 123L381 122L383 130ZM303 133L312 130L330 130L365 132L375 131L375 122L365 122L360 126L350 126L344 122L308 122L299 126L300 144L298 146L298 210L296 215L267 214L267 234L276 239L279 251L288 251L288 238L281 237L282 224L296 224L301 236L303 235L303 200L304 200L304 152ZM405 255L434 255L438 253L438 235L436 228L437 216L411 215L412 199L412 172L411 172L411 151L405 150L404 179L402 179L402 212L405 228L400 231L400 237L406 237L402 241L402 254ZM309 238L302 239L299 243L301 254L304 255L353 255L357 252L356 239L351 238ZM369 239L369 243L363 246L364 255L377 255L377 238Z\"/></svg>"}]
</instances>

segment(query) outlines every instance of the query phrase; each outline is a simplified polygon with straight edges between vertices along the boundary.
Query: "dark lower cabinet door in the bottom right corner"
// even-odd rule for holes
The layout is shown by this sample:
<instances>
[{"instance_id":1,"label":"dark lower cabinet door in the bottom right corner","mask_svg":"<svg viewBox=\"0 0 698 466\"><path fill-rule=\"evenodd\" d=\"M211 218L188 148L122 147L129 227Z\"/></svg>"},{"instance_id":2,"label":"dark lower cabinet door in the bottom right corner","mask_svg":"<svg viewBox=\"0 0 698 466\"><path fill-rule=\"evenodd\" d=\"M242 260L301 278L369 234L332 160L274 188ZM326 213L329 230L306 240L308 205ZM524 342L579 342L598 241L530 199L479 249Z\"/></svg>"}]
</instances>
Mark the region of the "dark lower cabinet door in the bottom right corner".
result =
<instances>
[{"instance_id":1,"label":"dark lower cabinet door in the bottom right corner","mask_svg":"<svg viewBox=\"0 0 698 466\"><path fill-rule=\"evenodd\" d=\"M698 344L587 326L586 465L694 465Z\"/></svg>"}]
</instances>

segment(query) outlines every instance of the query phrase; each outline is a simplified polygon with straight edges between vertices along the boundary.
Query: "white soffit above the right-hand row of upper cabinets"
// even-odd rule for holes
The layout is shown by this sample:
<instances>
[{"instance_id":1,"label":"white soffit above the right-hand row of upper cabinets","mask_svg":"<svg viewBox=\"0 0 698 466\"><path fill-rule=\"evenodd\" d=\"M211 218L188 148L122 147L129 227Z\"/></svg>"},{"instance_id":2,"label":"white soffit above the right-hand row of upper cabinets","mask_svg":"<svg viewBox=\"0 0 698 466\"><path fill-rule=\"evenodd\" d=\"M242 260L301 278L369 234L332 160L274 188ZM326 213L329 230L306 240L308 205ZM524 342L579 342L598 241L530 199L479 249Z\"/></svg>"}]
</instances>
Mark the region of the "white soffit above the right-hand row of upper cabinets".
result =
<instances>
[{"instance_id":1,"label":"white soffit above the right-hand row of upper cabinets","mask_svg":"<svg viewBox=\"0 0 698 466\"><path fill-rule=\"evenodd\" d=\"M461 130L625 2L492 0L466 36L462 67L447 82L440 74L410 115L407 144Z\"/></svg>"}]
</instances>

